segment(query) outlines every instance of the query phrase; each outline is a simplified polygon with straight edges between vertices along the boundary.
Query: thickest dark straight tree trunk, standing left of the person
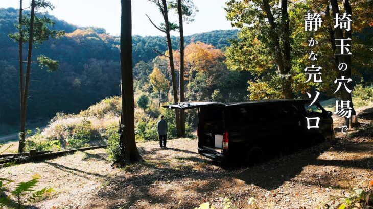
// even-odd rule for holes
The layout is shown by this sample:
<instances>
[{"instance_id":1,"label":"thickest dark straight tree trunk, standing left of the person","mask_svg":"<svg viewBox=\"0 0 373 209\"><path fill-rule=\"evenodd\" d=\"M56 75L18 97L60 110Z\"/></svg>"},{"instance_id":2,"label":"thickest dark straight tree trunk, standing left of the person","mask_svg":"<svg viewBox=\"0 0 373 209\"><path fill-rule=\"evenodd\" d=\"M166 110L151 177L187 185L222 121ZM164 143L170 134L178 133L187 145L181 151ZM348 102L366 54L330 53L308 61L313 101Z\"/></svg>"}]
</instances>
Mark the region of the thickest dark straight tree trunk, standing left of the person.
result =
<instances>
[{"instance_id":1,"label":"thickest dark straight tree trunk, standing left of the person","mask_svg":"<svg viewBox=\"0 0 373 209\"><path fill-rule=\"evenodd\" d=\"M129 164L142 161L138 153L135 140L134 125L134 99L132 77L132 19L131 0L121 0L121 92L122 92L122 116L121 116L121 162Z\"/></svg>"}]
</instances>

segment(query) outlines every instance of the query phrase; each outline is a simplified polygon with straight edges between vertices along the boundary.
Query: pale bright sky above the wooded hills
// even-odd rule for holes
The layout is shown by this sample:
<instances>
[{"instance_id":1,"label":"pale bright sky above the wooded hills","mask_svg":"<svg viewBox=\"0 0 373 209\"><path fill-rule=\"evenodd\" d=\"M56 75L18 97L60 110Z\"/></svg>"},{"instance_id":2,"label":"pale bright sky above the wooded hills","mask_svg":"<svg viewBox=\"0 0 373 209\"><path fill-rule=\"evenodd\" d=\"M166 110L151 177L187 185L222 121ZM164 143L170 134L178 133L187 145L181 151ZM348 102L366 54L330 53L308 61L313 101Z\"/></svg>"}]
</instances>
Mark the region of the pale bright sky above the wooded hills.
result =
<instances>
[{"instance_id":1,"label":"pale bright sky above the wooded hills","mask_svg":"<svg viewBox=\"0 0 373 209\"><path fill-rule=\"evenodd\" d=\"M184 24L184 34L207 32L212 30L232 29L225 18L223 7L227 0L194 0L199 12L195 21ZM24 7L29 6L24 0ZM106 29L112 35L120 33L121 3L120 0L50 0L56 8L49 13L68 23L86 27L95 26ZM18 0L0 0L0 8L19 7ZM148 0L132 0L132 34L141 36L164 35L149 22L149 17L157 25L163 21L159 10ZM177 20L174 11L169 12L171 20ZM178 32L172 35L178 36Z\"/></svg>"}]
</instances>

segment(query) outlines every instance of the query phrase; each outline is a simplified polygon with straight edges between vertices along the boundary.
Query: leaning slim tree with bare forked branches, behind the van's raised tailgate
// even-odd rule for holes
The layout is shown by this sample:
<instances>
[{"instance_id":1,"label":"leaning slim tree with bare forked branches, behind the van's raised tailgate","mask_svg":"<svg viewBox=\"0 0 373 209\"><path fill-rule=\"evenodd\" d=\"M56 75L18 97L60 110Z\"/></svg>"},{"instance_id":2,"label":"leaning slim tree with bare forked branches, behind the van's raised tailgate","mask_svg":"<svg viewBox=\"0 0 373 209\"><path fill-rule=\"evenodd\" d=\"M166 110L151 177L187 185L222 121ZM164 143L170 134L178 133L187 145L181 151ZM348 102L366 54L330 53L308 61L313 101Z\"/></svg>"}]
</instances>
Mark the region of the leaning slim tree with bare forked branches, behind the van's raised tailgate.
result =
<instances>
[{"instance_id":1,"label":"leaning slim tree with bare forked branches, behind the van's raised tailgate","mask_svg":"<svg viewBox=\"0 0 373 209\"><path fill-rule=\"evenodd\" d=\"M170 69L171 69L171 81L172 81L172 90L173 90L173 96L174 96L174 102L178 103L179 98L177 95L177 86L176 86L176 74L175 74L175 66L174 66L174 58L172 53L172 43L171 43L171 36L170 31L177 29L177 25L171 23L168 18L168 9L167 9L167 2L166 0L162 0L162 3L160 3L159 0L149 0L150 2L153 2L157 5L159 8L159 11L161 12L163 19L165 21L164 24L161 24L160 27L156 26L153 21L149 18L149 21L154 25L156 29L158 29L161 32L164 32L166 34L167 38L167 47L169 51L168 58L170 60ZM165 55L166 56L166 55ZM176 134L177 136L181 136L181 125L180 125L180 114L179 110L175 109L175 122L176 122Z\"/></svg>"}]
</instances>

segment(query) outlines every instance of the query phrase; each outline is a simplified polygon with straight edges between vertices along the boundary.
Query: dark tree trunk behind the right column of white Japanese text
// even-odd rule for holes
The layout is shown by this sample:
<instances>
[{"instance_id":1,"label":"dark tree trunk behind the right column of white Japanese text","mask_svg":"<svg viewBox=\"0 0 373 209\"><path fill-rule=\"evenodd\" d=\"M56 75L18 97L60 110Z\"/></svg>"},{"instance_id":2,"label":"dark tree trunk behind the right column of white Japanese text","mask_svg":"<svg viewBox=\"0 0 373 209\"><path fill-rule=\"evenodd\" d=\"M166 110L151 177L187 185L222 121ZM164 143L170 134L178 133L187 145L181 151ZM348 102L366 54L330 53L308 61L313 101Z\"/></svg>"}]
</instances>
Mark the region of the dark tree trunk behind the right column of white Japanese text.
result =
<instances>
[{"instance_id":1,"label":"dark tree trunk behind the right column of white Japanese text","mask_svg":"<svg viewBox=\"0 0 373 209\"><path fill-rule=\"evenodd\" d=\"M332 5L332 11L333 11L333 16L335 17L335 14L339 14L339 6L338 6L338 1L337 0L330 0L330 3ZM349 2L348 0L344 0L344 9L345 9L345 12L347 14L352 14L352 11L351 11L351 6L349 5ZM343 31L342 29L340 29L339 27L335 28L335 36L337 39L344 39L344 38L352 38L352 29L350 31L346 31L345 33L345 37L343 35ZM346 63L347 64L347 69L345 71L339 71L339 76L344 76L345 79L348 79L348 78L351 78L351 55L338 55L338 59L339 59L339 62L340 63ZM338 63L337 63L338 65ZM346 83L346 86L348 89L351 89L352 90L352 84L351 82L349 83ZM352 127L356 124L352 124L350 123L352 121L352 117L356 115L356 111L354 109L354 105L353 105L353 102L352 102L352 94L351 93L348 93L345 89L342 89L342 99L344 101L350 101L350 107L352 108L352 114L351 114L351 117L348 119L348 118L344 118L345 119L345 125L347 125L348 127Z\"/></svg>"}]
</instances>

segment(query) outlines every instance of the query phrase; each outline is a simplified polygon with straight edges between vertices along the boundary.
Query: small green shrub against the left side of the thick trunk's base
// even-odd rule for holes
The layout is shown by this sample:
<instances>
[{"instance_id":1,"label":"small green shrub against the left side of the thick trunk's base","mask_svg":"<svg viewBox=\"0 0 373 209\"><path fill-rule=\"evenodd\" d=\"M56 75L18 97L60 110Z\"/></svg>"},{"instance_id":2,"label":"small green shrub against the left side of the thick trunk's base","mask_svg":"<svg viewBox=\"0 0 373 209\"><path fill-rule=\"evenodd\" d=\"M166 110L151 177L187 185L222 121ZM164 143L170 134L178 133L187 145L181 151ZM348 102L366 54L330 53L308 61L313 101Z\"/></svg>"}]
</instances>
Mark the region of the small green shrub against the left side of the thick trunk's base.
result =
<instances>
[{"instance_id":1,"label":"small green shrub against the left side of the thick trunk's base","mask_svg":"<svg viewBox=\"0 0 373 209\"><path fill-rule=\"evenodd\" d=\"M105 133L106 151L109 154L109 160L115 161L120 157L119 150L119 127L116 124L112 124L106 129Z\"/></svg>"}]
</instances>

